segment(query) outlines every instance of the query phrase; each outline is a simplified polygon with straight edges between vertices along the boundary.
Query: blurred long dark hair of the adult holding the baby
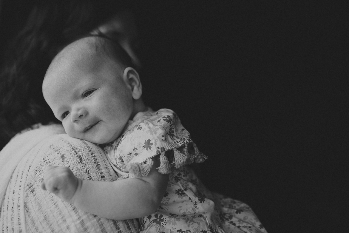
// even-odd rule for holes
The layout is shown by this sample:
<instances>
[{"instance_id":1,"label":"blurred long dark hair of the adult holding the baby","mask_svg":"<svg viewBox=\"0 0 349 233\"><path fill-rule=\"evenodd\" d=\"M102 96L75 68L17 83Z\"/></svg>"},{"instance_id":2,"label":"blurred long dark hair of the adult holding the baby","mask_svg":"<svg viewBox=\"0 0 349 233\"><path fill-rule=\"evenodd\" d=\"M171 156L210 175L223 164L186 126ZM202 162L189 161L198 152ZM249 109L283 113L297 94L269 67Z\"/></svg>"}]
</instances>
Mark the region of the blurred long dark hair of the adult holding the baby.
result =
<instances>
[{"instance_id":1,"label":"blurred long dark hair of the adult holding the baby","mask_svg":"<svg viewBox=\"0 0 349 233\"><path fill-rule=\"evenodd\" d=\"M123 1L37 1L6 53L0 73L0 149L19 131L57 122L42 95L54 56L125 8Z\"/></svg>"}]
</instances>

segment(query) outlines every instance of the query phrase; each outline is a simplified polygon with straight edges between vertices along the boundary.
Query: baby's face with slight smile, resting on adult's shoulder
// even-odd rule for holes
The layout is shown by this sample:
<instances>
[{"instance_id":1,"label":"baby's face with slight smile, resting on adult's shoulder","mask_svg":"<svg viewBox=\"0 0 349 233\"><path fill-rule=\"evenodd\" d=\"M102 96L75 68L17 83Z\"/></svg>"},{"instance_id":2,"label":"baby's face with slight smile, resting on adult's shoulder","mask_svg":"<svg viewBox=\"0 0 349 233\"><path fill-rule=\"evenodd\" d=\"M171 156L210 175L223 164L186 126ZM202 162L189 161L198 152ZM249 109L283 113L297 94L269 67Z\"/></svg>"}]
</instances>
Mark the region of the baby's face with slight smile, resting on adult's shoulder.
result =
<instances>
[{"instance_id":1,"label":"baby's face with slight smile, resting on adult's shoulder","mask_svg":"<svg viewBox=\"0 0 349 233\"><path fill-rule=\"evenodd\" d=\"M131 117L131 88L110 59L76 58L47 74L44 98L69 136L97 144L118 138Z\"/></svg>"}]
</instances>

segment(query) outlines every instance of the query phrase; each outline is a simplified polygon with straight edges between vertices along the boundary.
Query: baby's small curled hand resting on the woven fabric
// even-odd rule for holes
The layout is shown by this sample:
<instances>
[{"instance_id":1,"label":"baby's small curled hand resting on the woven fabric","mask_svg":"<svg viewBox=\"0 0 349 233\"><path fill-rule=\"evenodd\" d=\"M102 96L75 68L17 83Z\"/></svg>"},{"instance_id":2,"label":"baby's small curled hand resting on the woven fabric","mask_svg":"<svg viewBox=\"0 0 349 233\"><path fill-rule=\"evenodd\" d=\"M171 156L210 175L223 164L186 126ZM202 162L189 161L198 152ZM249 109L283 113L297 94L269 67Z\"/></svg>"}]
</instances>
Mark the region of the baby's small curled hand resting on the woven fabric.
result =
<instances>
[{"instance_id":1,"label":"baby's small curled hand resting on the woven fabric","mask_svg":"<svg viewBox=\"0 0 349 233\"><path fill-rule=\"evenodd\" d=\"M82 181L75 177L68 167L49 166L46 169L41 188L47 190L66 202L73 203L73 196Z\"/></svg>"}]
</instances>

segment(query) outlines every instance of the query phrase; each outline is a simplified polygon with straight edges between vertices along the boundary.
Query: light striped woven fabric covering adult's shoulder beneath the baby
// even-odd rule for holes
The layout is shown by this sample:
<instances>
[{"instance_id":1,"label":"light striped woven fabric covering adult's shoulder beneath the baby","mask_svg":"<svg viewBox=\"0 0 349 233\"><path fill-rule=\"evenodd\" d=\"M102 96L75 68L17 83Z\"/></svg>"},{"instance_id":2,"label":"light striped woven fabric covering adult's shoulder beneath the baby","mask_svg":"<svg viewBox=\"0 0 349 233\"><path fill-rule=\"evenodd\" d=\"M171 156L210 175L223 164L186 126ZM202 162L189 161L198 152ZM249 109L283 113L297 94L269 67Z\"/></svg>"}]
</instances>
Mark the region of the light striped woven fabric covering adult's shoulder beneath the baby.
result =
<instances>
[{"instance_id":1,"label":"light striped woven fabric covering adult's shoulder beneath the baby","mask_svg":"<svg viewBox=\"0 0 349 233\"><path fill-rule=\"evenodd\" d=\"M8 149L6 153L1 151L1 232L138 232L139 226L134 219L119 221L101 218L76 209L40 188L45 168L50 165L67 166L83 180L117 179L98 146L58 134L61 129L57 125L49 127L52 128L40 127L13 138L12 145L18 145L17 152L25 152L11 155L13 160L8 155ZM47 133L47 130L51 130L51 133ZM32 140L38 134L45 136ZM32 143L34 141L39 142ZM3 176L5 170L7 173L13 171L7 183L3 179L6 178Z\"/></svg>"}]
</instances>

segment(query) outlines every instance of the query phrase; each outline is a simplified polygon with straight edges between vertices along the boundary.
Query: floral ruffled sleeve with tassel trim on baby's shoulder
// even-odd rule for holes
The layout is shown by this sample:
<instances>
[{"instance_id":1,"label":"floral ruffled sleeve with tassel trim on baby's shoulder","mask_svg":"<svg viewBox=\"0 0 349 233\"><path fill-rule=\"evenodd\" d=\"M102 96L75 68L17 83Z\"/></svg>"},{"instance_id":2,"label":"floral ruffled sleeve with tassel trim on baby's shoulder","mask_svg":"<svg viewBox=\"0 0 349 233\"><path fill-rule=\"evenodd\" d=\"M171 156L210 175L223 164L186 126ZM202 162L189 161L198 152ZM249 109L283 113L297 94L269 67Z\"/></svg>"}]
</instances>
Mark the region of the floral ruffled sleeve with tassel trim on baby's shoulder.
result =
<instances>
[{"instance_id":1,"label":"floral ruffled sleeve with tassel trim on baby's shoulder","mask_svg":"<svg viewBox=\"0 0 349 233\"><path fill-rule=\"evenodd\" d=\"M107 153L111 161L122 161L126 169L121 170L128 172L122 178L147 176L153 166L151 158L157 155L160 159L157 170L162 174L170 173L172 167L201 163L207 158L177 114L165 108L138 113L129 122L117 148Z\"/></svg>"}]
</instances>

